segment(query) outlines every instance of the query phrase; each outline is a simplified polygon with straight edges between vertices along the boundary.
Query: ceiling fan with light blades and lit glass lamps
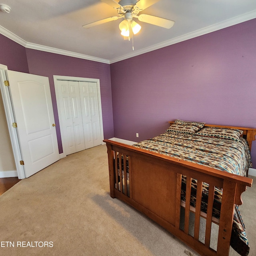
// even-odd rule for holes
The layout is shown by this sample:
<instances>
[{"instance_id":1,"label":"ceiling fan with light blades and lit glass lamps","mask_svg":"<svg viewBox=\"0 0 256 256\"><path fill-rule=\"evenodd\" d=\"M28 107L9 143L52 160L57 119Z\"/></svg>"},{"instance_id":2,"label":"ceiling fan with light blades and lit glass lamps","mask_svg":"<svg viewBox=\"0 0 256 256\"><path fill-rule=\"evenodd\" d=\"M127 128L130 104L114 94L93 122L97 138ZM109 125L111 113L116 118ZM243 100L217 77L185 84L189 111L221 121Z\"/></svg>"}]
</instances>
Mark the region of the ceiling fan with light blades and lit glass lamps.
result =
<instances>
[{"instance_id":1,"label":"ceiling fan with light blades and lit glass lamps","mask_svg":"<svg viewBox=\"0 0 256 256\"><path fill-rule=\"evenodd\" d=\"M142 22L160 26L163 28L171 28L174 25L173 20L167 20L165 18L160 18L157 16L152 16L149 14L139 14L142 10L148 8L149 6L155 4L159 0L120 0L116 2L115 0L101 0L102 2L112 6L117 10L119 16L112 16L102 20L98 20L83 26L83 28L91 28L112 20L117 20L119 18L124 18L119 24L119 29L121 30L121 35L124 39L130 40L133 34L137 34L141 26L133 20L133 18L138 18Z\"/></svg>"}]
</instances>

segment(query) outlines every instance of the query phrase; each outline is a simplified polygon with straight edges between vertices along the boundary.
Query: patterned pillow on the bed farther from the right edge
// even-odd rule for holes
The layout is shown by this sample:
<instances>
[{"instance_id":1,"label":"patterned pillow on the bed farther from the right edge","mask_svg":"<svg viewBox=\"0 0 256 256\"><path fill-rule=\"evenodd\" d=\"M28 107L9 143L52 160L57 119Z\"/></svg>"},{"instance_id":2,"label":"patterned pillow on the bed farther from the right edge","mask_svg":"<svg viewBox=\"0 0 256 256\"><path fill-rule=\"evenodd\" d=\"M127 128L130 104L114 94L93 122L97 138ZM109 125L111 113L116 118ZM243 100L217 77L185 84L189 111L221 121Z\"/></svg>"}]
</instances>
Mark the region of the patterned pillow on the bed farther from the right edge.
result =
<instances>
[{"instance_id":1,"label":"patterned pillow on the bed farther from the right edge","mask_svg":"<svg viewBox=\"0 0 256 256\"><path fill-rule=\"evenodd\" d=\"M166 132L194 134L204 127L205 123L188 122L182 120L175 120L175 122L166 130Z\"/></svg>"}]
</instances>

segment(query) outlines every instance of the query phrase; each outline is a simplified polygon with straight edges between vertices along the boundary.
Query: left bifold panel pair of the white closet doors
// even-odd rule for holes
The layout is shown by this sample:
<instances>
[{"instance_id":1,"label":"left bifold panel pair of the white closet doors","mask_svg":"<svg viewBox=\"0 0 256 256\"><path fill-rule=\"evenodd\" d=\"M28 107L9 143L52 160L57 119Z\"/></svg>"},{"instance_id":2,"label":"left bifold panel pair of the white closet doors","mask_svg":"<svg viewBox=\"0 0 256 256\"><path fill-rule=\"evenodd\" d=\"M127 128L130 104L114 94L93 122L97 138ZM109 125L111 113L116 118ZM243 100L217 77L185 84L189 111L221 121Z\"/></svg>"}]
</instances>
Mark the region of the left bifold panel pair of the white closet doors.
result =
<instances>
[{"instance_id":1,"label":"left bifold panel pair of the white closet doors","mask_svg":"<svg viewBox=\"0 0 256 256\"><path fill-rule=\"evenodd\" d=\"M66 154L85 149L79 84L77 81L58 80L59 115Z\"/></svg>"}]
</instances>

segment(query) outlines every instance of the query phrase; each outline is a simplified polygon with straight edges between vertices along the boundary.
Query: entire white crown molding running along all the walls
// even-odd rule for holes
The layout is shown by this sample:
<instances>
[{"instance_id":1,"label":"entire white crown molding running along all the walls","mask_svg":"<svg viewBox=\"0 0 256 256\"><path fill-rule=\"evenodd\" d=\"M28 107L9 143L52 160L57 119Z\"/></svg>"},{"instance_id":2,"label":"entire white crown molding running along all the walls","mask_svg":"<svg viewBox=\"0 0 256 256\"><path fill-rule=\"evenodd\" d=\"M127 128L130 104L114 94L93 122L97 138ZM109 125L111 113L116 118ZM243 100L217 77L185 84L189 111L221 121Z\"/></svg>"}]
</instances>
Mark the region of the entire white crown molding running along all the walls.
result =
<instances>
[{"instance_id":1,"label":"entire white crown molding running along all the walls","mask_svg":"<svg viewBox=\"0 0 256 256\"><path fill-rule=\"evenodd\" d=\"M23 40L22 38L20 38L19 36L15 35L14 33L10 32L9 30L7 30L6 28L4 28L2 26L0 26L0 33L2 35L6 36L7 38L13 40L14 42L24 46L25 48L40 50L40 51L44 51L44 52L51 52L51 53L71 56L74 58L81 58L81 59L85 59L85 60L92 60L92 61L102 62L102 63L106 63L106 64L112 64L112 63L115 63L115 62L118 62L121 60L126 60L128 58L138 56L140 54L144 54L144 53L151 52L151 51L154 51L154 50L166 47L166 46L170 46L172 44L176 44L176 43L179 43L179 42L191 39L191 38L195 38L197 36L202 36L204 34L208 34L210 32L214 32L214 31L220 30L222 28L227 28L229 26L233 26L233 25L236 25L236 24L248 21L248 20L252 20L254 18L256 18L256 10L247 12L246 14L236 16L236 17L228 19L228 20L224 20L223 22L216 23L212 26L208 26L208 27L205 27L205 28L202 28L199 30L195 30L188 34L178 36L176 38L164 41L160 44L155 44L153 46L143 48L142 50L138 50L138 51L132 52L130 54L120 56L118 58L114 58L112 60L106 60L106 59L97 58L97 57L93 57L93 56L89 56L89 55L85 55L85 54L79 54L76 52L70 52L70 51L61 50L58 48L53 48L53 47L43 46L40 44L33 44L30 42L26 42L25 40Z\"/></svg>"}]
</instances>

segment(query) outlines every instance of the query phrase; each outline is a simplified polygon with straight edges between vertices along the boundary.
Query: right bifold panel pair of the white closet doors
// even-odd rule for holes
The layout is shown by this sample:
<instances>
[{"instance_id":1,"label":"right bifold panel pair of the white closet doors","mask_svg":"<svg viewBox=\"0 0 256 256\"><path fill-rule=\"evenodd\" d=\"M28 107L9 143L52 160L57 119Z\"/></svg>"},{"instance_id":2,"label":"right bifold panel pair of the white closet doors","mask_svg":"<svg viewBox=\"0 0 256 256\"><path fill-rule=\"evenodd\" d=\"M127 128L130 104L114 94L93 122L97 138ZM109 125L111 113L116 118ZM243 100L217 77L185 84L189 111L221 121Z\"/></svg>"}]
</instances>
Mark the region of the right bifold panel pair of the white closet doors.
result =
<instances>
[{"instance_id":1,"label":"right bifold panel pair of the white closet doors","mask_svg":"<svg viewBox=\"0 0 256 256\"><path fill-rule=\"evenodd\" d=\"M86 148L101 144L100 114L96 82L79 82Z\"/></svg>"}]
</instances>

